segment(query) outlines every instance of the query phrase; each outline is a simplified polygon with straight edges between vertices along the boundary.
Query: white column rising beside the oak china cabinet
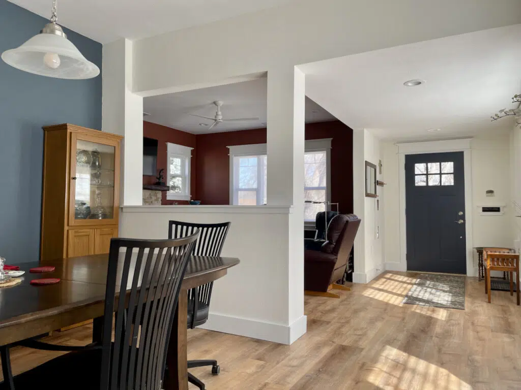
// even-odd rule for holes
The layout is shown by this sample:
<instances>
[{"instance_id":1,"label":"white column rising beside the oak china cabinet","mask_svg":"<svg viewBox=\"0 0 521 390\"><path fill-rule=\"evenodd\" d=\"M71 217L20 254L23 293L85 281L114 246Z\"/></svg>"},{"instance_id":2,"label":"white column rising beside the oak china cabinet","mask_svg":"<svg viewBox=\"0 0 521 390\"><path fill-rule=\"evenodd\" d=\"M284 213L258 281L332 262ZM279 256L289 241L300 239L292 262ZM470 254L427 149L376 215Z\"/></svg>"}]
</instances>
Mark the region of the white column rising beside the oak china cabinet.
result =
<instances>
[{"instance_id":1,"label":"white column rising beside the oak china cabinet","mask_svg":"<svg viewBox=\"0 0 521 390\"><path fill-rule=\"evenodd\" d=\"M132 41L103 45L102 131L122 135L121 205L143 202L143 98L132 93Z\"/></svg>"}]
</instances>

